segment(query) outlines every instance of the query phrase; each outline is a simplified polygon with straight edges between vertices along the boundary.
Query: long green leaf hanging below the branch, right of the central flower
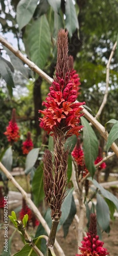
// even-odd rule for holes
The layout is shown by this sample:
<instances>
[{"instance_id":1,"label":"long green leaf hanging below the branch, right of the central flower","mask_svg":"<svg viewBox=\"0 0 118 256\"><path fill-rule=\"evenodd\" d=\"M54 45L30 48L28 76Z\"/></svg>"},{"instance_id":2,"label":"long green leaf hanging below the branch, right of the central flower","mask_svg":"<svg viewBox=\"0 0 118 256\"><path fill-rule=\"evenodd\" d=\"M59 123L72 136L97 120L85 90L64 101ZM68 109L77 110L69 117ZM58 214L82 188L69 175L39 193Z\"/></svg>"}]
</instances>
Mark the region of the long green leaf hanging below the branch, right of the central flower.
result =
<instances>
[{"instance_id":1,"label":"long green leaf hanging below the branch, right of the central flower","mask_svg":"<svg viewBox=\"0 0 118 256\"><path fill-rule=\"evenodd\" d=\"M88 169L90 175L93 175L96 172L95 160L98 156L98 139L95 132L92 130L92 127L89 125L88 121L81 117L81 123L84 126L83 128L83 150L86 168Z\"/></svg>"}]
</instances>

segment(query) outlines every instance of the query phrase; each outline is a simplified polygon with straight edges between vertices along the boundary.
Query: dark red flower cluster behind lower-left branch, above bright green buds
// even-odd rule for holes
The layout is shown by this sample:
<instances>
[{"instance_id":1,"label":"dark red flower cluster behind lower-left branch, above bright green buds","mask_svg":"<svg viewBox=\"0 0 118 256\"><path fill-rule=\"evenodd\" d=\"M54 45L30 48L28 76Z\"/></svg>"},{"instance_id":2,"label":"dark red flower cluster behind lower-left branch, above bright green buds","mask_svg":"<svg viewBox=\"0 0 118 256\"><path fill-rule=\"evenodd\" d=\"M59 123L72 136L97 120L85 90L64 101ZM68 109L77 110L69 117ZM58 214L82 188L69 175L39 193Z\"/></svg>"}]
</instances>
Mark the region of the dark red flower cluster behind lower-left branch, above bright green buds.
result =
<instances>
[{"instance_id":1,"label":"dark red flower cluster behind lower-left branch, above bright green buds","mask_svg":"<svg viewBox=\"0 0 118 256\"><path fill-rule=\"evenodd\" d=\"M31 223L31 222L32 222L33 227L39 225L39 221L36 219L35 214L32 212L32 210L28 207L26 200L22 199L22 209L19 212L21 221L26 214L28 214L28 216L29 216L27 226L29 226L29 223Z\"/></svg>"}]
</instances>

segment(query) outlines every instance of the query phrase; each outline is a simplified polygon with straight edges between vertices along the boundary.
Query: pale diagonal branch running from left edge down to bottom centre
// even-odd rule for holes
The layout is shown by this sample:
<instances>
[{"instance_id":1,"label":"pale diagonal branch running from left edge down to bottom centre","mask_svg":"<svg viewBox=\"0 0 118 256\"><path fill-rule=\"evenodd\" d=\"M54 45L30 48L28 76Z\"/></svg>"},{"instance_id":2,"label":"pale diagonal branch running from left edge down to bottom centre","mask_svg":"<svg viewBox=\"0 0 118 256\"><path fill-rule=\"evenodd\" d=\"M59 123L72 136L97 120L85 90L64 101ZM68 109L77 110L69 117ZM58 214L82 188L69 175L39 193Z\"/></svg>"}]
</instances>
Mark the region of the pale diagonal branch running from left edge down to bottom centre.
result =
<instances>
[{"instance_id":1,"label":"pale diagonal branch running from left edge down to bottom centre","mask_svg":"<svg viewBox=\"0 0 118 256\"><path fill-rule=\"evenodd\" d=\"M40 211L35 206L35 204L32 202L32 200L28 197L28 194L25 190L17 183L17 181L13 178L13 176L9 173L9 171L6 169L6 167L0 162L0 169L2 169L3 173L7 176L7 178L14 184L14 186L20 191L22 194L22 197L27 201L27 203L30 205L31 209L33 210L34 214L36 215L37 219L41 222L43 228L45 229L46 233L48 235L50 234L50 228L46 221L43 219L42 215L40 214ZM57 251L59 252L60 256L65 256L62 248L58 244L57 240L55 240L55 247Z\"/></svg>"}]
</instances>

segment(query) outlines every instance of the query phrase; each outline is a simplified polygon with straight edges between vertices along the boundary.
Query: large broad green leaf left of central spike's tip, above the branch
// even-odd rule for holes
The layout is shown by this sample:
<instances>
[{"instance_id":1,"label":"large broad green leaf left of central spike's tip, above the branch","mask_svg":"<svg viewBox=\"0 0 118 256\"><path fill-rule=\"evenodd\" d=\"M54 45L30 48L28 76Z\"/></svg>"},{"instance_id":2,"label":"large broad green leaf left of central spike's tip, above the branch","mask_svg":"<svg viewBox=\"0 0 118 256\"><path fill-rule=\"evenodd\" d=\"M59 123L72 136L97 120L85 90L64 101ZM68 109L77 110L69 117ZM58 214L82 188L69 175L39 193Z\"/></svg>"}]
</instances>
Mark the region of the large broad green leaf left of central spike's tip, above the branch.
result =
<instances>
[{"instance_id":1,"label":"large broad green leaf left of central spike's tip, above the branch","mask_svg":"<svg viewBox=\"0 0 118 256\"><path fill-rule=\"evenodd\" d=\"M43 69L51 48L51 34L45 14L26 26L23 36L28 57Z\"/></svg>"}]
</instances>

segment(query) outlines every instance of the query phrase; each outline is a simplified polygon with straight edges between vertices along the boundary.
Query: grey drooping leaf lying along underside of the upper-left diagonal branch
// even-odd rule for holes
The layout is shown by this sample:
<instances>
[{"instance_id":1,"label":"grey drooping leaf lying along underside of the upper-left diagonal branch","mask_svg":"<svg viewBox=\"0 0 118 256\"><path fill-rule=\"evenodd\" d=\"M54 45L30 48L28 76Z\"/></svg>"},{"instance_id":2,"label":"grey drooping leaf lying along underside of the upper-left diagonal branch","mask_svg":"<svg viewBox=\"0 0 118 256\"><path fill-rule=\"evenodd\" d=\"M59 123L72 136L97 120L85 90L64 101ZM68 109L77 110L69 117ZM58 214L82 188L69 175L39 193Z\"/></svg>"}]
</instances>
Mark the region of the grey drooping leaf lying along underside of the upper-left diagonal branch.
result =
<instances>
[{"instance_id":1,"label":"grey drooping leaf lying along underside of the upper-left diagonal branch","mask_svg":"<svg viewBox=\"0 0 118 256\"><path fill-rule=\"evenodd\" d=\"M9 55L12 65L14 66L14 69L20 71L23 76L28 78L29 68L26 68L23 65L23 62L18 57L16 57L7 47L4 46L4 49Z\"/></svg>"}]
</instances>

